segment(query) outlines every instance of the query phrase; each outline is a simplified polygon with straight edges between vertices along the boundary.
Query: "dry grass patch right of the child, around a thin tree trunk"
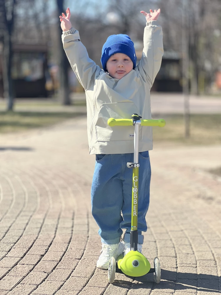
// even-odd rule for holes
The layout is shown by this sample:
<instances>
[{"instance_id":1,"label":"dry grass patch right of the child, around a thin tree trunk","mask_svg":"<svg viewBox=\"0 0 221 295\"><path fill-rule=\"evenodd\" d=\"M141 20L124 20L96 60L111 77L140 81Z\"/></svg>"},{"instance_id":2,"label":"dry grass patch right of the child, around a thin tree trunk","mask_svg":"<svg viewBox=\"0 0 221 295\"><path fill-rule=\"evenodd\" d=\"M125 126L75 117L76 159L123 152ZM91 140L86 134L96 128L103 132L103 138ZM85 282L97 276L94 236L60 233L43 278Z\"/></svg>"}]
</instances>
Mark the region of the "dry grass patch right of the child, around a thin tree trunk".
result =
<instances>
[{"instance_id":1,"label":"dry grass patch right of the child, around a thin tree trunk","mask_svg":"<svg viewBox=\"0 0 221 295\"><path fill-rule=\"evenodd\" d=\"M163 128L153 127L154 142L183 145L221 144L221 115L190 115L190 137L185 138L182 115L162 116L166 120ZM158 118L154 118L158 119Z\"/></svg>"}]
</instances>

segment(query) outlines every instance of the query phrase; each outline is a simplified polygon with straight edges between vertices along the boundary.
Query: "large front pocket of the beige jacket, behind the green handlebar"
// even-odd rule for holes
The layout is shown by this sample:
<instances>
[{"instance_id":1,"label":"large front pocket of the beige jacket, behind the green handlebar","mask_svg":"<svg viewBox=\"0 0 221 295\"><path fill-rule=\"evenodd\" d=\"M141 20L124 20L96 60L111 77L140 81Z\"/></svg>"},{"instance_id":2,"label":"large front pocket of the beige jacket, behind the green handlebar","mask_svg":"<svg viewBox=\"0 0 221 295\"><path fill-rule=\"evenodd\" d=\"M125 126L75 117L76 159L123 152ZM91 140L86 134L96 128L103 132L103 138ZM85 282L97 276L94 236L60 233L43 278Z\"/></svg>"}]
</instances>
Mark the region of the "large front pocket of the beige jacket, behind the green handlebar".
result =
<instances>
[{"instance_id":1,"label":"large front pocket of the beige jacket, behind the green handlebar","mask_svg":"<svg viewBox=\"0 0 221 295\"><path fill-rule=\"evenodd\" d=\"M95 130L97 141L124 141L134 139L133 126L108 126L108 119L131 119L132 114L141 116L132 101L102 104L98 113ZM142 138L142 126L139 127L139 139Z\"/></svg>"}]
</instances>

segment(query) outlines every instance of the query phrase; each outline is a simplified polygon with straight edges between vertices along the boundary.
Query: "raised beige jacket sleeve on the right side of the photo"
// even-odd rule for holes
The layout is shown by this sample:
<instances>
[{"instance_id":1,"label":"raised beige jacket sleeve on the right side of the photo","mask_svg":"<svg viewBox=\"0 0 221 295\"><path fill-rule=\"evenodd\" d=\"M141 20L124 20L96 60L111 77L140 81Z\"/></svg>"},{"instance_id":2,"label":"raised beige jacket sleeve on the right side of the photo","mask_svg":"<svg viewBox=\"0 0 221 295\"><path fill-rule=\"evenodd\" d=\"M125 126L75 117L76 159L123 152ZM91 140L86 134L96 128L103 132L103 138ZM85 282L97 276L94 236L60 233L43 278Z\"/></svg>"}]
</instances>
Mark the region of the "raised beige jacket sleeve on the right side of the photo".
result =
<instances>
[{"instance_id":1,"label":"raised beige jacket sleeve on the right side of the photo","mask_svg":"<svg viewBox=\"0 0 221 295\"><path fill-rule=\"evenodd\" d=\"M152 87L161 66L163 49L163 32L157 21L146 23L144 28L144 50L137 68L141 77Z\"/></svg>"}]
</instances>

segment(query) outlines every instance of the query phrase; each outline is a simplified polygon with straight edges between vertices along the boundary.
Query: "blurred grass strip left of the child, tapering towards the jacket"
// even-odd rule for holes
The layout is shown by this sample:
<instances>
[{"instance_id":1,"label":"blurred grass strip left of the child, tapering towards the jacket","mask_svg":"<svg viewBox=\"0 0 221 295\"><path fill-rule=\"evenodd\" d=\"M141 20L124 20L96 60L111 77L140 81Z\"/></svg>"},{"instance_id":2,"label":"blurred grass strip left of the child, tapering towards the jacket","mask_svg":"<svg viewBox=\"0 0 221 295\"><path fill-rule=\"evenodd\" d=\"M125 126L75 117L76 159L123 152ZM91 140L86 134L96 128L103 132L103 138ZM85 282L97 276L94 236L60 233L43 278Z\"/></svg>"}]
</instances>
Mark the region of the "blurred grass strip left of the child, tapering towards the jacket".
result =
<instances>
[{"instance_id":1,"label":"blurred grass strip left of the child, tapering towards the jacket","mask_svg":"<svg viewBox=\"0 0 221 295\"><path fill-rule=\"evenodd\" d=\"M47 127L80 115L74 112L0 112L0 133Z\"/></svg>"}]
</instances>

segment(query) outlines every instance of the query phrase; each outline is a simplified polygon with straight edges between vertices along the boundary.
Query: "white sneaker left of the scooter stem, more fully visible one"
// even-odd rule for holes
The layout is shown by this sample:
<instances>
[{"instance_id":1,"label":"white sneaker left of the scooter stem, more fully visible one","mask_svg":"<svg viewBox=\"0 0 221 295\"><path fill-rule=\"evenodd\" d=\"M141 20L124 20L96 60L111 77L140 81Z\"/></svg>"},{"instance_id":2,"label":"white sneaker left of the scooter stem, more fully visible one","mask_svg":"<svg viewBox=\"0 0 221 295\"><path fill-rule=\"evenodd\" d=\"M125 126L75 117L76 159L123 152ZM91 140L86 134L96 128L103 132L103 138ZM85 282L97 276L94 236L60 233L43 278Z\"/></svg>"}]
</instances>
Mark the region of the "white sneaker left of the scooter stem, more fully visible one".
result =
<instances>
[{"instance_id":1,"label":"white sneaker left of the scooter stem, more fully visible one","mask_svg":"<svg viewBox=\"0 0 221 295\"><path fill-rule=\"evenodd\" d=\"M119 255L123 253L124 246L123 243L119 242L119 244L107 245L102 243L102 252L97 261L97 267L101 269L108 269L109 260L111 257L115 259L118 258Z\"/></svg>"}]
</instances>

